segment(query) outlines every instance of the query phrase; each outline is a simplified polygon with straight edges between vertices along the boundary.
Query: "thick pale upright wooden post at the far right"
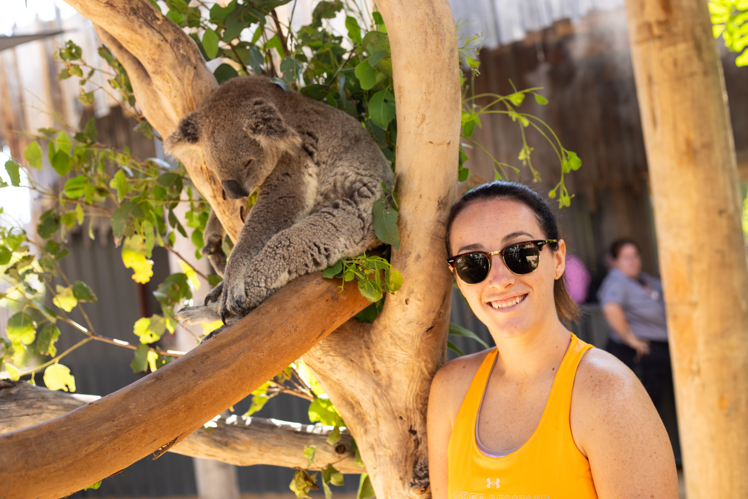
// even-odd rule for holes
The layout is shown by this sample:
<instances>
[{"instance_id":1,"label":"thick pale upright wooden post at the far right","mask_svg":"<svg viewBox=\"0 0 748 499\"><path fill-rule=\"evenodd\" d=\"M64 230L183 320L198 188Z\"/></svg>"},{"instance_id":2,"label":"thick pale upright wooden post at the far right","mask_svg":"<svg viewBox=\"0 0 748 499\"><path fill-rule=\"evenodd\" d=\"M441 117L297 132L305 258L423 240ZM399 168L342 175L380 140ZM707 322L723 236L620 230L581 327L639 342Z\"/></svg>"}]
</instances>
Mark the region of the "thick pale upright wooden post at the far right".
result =
<instances>
[{"instance_id":1,"label":"thick pale upright wooden post at the far right","mask_svg":"<svg viewBox=\"0 0 748 499\"><path fill-rule=\"evenodd\" d=\"M689 499L748 497L748 269L706 1L627 0Z\"/></svg>"}]
</instances>

